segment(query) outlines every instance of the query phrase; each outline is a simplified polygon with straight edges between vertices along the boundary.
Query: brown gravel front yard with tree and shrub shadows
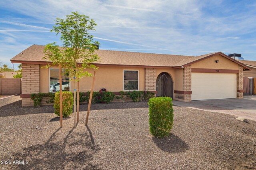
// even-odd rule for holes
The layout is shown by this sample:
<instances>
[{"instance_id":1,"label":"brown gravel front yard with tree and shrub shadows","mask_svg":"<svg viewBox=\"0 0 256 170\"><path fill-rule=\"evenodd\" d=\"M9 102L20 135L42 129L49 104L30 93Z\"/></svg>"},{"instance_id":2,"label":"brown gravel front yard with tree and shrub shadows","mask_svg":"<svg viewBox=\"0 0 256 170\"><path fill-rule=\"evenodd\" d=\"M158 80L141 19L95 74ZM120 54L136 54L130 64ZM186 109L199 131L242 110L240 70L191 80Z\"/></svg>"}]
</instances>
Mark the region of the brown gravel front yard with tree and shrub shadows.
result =
<instances>
[{"instance_id":1,"label":"brown gravel front yard with tree and shrub shadows","mask_svg":"<svg viewBox=\"0 0 256 170\"><path fill-rule=\"evenodd\" d=\"M255 169L256 122L186 107L174 107L170 137L149 133L146 102L80 106L59 118L52 106L21 107L21 101L0 107L0 160L24 160L25 165L1 164L1 169ZM39 127L36 129L36 127Z\"/></svg>"}]
</instances>

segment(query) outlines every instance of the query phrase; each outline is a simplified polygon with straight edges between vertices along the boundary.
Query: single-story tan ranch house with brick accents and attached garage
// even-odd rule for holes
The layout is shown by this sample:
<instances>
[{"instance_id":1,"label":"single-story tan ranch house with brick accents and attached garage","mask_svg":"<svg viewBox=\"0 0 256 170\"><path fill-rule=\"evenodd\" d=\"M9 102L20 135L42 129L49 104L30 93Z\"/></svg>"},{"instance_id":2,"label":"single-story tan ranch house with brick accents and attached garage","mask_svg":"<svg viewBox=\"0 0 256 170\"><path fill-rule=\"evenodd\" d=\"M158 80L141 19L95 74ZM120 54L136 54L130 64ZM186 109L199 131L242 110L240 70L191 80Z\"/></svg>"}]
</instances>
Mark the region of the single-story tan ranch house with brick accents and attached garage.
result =
<instances>
[{"instance_id":1,"label":"single-story tan ranch house with brick accents and attached garage","mask_svg":"<svg viewBox=\"0 0 256 170\"><path fill-rule=\"evenodd\" d=\"M101 61L96 72L94 91L148 90L156 96L170 96L174 100L209 100L243 98L245 64L221 52L200 55L164 55L124 51L96 51ZM58 91L58 68L44 68L44 46L32 45L11 59L22 63L22 106L33 106L32 93ZM92 71L92 70L90 70ZM63 77L68 83L68 77ZM80 80L80 91L89 91L92 77Z\"/></svg>"}]
</instances>

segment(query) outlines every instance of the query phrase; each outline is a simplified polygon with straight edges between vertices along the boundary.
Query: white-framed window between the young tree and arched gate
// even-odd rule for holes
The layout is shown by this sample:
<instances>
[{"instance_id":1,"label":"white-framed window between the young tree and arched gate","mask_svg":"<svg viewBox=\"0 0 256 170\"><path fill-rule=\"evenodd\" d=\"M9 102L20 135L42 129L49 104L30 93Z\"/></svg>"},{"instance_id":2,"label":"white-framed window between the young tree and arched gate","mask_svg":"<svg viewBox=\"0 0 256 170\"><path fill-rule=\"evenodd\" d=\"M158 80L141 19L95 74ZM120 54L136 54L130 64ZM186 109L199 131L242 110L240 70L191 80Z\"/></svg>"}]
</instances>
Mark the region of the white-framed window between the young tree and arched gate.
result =
<instances>
[{"instance_id":1,"label":"white-framed window between the young tree and arched gate","mask_svg":"<svg viewBox=\"0 0 256 170\"><path fill-rule=\"evenodd\" d=\"M124 90L139 90L138 70L124 70Z\"/></svg>"}]
</instances>

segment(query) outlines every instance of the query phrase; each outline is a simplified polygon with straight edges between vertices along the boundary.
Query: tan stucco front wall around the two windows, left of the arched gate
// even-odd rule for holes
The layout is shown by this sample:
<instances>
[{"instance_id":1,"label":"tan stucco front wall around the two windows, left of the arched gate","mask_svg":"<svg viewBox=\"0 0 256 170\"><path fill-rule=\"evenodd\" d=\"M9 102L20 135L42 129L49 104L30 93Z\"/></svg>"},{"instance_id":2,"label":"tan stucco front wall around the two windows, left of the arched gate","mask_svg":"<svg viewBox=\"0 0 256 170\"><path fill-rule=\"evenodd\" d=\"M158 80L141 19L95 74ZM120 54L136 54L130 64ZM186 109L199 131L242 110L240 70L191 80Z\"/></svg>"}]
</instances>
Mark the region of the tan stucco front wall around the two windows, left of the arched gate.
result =
<instances>
[{"instance_id":1,"label":"tan stucco front wall around the two windows, left of the arched gate","mask_svg":"<svg viewBox=\"0 0 256 170\"><path fill-rule=\"evenodd\" d=\"M42 68L42 66L44 65L40 65L40 92L47 93L49 91L49 69ZM123 70L139 70L139 90L144 90L144 68L100 66L96 72L94 91L98 91L102 87L111 92L122 91ZM94 72L90 69L88 71L92 74ZM82 89L80 92L90 91L91 86L92 77L84 77L80 80L79 89ZM71 89L74 89L73 82L71 82Z\"/></svg>"}]
</instances>

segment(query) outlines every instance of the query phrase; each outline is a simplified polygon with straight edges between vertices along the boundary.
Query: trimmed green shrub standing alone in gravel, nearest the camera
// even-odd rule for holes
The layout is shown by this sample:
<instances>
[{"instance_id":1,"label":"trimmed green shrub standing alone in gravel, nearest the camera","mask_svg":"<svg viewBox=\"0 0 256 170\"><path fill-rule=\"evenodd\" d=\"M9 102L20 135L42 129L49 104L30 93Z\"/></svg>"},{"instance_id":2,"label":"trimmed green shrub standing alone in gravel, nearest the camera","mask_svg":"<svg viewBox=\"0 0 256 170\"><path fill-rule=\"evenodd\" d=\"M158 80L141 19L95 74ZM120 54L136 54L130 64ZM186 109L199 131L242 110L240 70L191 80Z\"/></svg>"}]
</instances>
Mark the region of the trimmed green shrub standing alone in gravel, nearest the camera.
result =
<instances>
[{"instance_id":1,"label":"trimmed green shrub standing alone in gravel, nearest the camera","mask_svg":"<svg viewBox=\"0 0 256 170\"><path fill-rule=\"evenodd\" d=\"M151 98L148 105L150 133L155 137L169 136L173 124L172 98Z\"/></svg>"}]
</instances>

